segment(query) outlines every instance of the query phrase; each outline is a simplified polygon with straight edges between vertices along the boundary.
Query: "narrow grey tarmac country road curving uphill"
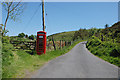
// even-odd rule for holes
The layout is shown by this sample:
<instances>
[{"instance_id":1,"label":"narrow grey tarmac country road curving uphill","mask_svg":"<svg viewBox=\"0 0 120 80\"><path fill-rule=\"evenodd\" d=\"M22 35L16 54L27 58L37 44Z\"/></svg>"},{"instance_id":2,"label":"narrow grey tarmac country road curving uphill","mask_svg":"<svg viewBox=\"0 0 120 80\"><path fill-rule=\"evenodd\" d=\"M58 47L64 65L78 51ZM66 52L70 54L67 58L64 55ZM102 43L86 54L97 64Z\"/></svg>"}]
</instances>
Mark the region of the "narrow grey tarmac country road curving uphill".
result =
<instances>
[{"instance_id":1,"label":"narrow grey tarmac country road curving uphill","mask_svg":"<svg viewBox=\"0 0 120 80\"><path fill-rule=\"evenodd\" d=\"M45 64L32 78L118 78L118 67L91 54L86 42ZM56 53L57 54L57 53Z\"/></svg>"}]
</instances>

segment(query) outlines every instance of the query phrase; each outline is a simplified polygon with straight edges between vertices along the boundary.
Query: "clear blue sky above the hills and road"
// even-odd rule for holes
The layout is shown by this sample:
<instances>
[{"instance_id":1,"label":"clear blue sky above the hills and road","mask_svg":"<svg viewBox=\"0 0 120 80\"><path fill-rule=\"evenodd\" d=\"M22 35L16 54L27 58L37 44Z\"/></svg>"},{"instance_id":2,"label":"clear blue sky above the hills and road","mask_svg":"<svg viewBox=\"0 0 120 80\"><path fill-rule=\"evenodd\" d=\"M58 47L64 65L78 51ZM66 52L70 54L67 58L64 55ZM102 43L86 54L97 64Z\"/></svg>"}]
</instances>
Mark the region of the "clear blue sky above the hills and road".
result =
<instances>
[{"instance_id":1,"label":"clear blue sky above the hills and road","mask_svg":"<svg viewBox=\"0 0 120 80\"><path fill-rule=\"evenodd\" d=\"M38 8L39 4L39 2L26 2L21 16L15 22L9 19L6 27L9 30L7 35L16 36L21 32L36 35L37 31L42 30L42 12L41 6ZM111 26L118 21L117 2L46 2L45 12L47 35L80 28L104 28L105 24ZM5 17L3 8L3 23Z\"/></svg>"}]
</instances>

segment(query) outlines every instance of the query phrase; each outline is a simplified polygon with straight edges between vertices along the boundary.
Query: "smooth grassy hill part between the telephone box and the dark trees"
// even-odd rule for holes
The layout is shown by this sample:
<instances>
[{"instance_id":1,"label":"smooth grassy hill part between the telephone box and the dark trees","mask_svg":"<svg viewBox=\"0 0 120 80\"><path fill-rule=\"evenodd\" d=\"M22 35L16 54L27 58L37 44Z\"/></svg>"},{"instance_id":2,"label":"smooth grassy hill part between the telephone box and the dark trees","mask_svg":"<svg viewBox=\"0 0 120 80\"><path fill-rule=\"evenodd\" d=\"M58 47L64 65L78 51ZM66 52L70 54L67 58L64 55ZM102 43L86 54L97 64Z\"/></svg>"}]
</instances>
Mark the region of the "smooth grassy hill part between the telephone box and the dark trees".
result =
<instances>
[{"instance_id":1,"label":"smooth grassy hill part between the telephone box and the dark trees","mask_svg":"<svg viewBox=\"0 0 120 80\"><path fill-rule=\"evenodd\" d=\"M55 41L59 41L59 40L72 41L74 33L75 33L75 31L56 33L56 34L48 36L47 38L49 40L51 40L52 36L53 36L53 38L54 38Z\"/></svg>"}]
</instances>

